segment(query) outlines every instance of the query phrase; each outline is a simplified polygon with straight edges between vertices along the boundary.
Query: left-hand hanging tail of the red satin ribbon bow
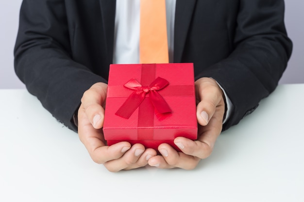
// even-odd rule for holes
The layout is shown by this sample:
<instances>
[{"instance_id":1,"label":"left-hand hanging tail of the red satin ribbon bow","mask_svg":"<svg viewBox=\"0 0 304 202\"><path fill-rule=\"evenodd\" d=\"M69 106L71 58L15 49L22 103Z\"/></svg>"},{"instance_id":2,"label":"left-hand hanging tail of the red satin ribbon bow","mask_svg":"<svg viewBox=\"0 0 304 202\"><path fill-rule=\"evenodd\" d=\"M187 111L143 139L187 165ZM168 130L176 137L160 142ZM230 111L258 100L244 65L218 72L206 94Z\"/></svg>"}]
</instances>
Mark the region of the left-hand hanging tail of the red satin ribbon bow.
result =
<instances>
[{"instance_id":1,"label":"left-hand hanging tail of the red satin ribbon bow","mask_svg":"<svg viewBox=\"0 0 304 202\"><path fill-rule=\"evenodd\" d=\"M133 112L139 107L140 103L145 99L146 93L138 93L134 91L126 101L116 111L116 115L129 119Z\"/></svg>"}]
</instances>

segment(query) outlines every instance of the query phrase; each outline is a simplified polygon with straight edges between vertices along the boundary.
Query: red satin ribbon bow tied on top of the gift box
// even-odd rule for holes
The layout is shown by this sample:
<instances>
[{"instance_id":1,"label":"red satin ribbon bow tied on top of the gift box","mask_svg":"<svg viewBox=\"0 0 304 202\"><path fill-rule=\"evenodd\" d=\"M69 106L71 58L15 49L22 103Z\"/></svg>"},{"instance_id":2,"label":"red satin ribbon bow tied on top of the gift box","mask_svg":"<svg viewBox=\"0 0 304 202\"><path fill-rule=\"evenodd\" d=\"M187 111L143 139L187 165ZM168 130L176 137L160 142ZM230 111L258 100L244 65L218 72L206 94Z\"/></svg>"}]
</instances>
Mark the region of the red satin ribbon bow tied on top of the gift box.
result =
<instances>
[{"instance_id":1,"label":"red satin ribbon bow tied on top of the gift box","mask_svg":"<svg viewBox=\"0 0 304 202\"><path fill-rule=\"evenodd\" d=\"M166 100L157 92L167 87L169 82L164 78L155 78L149 86L142 86L135 78L130 79L123 86L134 90L132 94L126 99L121 107L115 113L116 115L129 119L133 112L139 107L140 103L145 99L146 94L149 93L150 100L154 108L159 113L169 113L171 109Z\"/></svg>"}]
</instances>

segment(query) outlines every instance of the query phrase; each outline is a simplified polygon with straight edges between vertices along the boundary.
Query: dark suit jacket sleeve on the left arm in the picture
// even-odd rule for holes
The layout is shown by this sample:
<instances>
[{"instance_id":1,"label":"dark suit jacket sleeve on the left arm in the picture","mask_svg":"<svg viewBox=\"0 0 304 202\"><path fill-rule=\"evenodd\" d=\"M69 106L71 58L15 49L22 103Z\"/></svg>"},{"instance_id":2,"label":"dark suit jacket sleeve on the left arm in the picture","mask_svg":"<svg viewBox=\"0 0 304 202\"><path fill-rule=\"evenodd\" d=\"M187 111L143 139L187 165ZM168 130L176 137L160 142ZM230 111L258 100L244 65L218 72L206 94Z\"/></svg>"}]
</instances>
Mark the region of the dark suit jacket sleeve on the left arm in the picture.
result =
<instances>
[{"instance_id":1,"label":"dark suit jacket sleeve on the left arm in the picture","mask_svg":"<svg viewBox=\"0 0 304 202\"><path fill-rule=\"evenodd\" d=\"M15 46L15 71L28 91L68 128L83 92L105 79L71 58L64 0L23 0Z\"/></svg>"}]
</instances>

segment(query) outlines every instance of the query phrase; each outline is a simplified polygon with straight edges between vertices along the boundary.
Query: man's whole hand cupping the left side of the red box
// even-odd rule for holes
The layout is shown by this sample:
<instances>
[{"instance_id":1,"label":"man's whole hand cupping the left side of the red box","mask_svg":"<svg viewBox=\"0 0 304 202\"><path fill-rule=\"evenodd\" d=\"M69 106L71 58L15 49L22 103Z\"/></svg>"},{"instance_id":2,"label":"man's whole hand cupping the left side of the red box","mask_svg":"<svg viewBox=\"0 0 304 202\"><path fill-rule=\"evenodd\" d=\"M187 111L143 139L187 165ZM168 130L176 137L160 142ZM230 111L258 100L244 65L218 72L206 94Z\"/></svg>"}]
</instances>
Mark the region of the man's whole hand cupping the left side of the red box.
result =
<instances>
[{"instance_id":1,"label":"man's whole hand cupping the left side of the red box","mask_svg":"<svg viewBox=\"0 0 304 202\"><path fill-rule=\"evenodd\" d=\"M119 142L106 146L102 126L107 84L95 83L88 89L78 110L78 135L94 162L103 164L109 171L131 170L146 166L150 157L156 155L153 149L142 144L131 146Z\"/></svg>"}]
</instances>

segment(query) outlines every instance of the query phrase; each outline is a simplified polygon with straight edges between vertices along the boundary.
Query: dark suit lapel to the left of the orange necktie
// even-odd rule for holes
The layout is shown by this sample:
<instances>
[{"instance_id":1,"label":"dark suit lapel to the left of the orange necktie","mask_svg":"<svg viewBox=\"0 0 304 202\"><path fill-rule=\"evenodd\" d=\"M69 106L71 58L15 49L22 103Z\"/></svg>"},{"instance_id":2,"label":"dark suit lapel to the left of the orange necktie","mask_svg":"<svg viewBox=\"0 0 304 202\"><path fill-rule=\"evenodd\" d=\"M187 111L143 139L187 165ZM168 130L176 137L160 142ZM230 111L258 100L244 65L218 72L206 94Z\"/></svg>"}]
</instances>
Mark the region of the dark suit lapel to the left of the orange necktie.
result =
<instances>
[{"instance_id":1,"label":"dark suit lapel to the left of the orange necktie","mask_svg":"<svg viewBox=\"0 0 304 202\"><path fill-rule=\"evenodd\" d=\"M109 63L112 63L116 0L99 0L99 2L101 7L103 31L105 34L106 51L110 60Z\"/></svg>"}]
</instances>

